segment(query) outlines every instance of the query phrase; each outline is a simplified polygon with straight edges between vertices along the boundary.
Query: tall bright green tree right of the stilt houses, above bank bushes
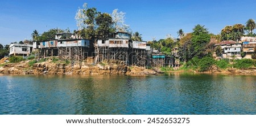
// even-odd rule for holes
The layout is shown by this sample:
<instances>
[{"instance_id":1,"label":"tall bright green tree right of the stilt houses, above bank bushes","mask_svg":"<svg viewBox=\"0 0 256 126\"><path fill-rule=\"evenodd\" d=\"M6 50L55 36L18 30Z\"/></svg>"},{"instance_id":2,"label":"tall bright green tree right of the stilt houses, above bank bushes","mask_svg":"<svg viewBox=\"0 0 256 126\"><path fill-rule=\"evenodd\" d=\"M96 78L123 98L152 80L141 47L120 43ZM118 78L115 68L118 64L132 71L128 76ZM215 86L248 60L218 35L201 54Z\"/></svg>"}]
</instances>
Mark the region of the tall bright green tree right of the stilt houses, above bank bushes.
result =
<instances>
[{"instance_id":1,"label":"tall bright green tree right of the stilt houses, above bank bushes","mask_svg":"<svg viewBox=\"0 0 256 126\"><path fill-rule=\"evenodd\" d=\"M192 38L191 38L192 45L189 48L192 57L199 57L203 58L206 55L206 45L210 42L210 34L207 28L204 28L202 25L196 25L193 28Z\"/></svg>"}]
</instances>

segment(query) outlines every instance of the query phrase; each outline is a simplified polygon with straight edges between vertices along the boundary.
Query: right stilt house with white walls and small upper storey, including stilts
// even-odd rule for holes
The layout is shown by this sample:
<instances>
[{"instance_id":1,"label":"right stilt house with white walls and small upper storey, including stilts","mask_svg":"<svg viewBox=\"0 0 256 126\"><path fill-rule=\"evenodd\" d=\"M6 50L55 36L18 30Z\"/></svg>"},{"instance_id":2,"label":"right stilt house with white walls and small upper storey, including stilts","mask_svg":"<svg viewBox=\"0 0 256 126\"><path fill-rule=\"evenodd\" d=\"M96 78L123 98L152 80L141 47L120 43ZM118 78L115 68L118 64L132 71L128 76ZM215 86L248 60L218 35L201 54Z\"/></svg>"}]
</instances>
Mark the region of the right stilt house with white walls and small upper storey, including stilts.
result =
<instances>
[{"instance_id":1,"label":"right stilt house with white walls and small upper storey, including stilts","mask_svg":"<svg viewBox=\"0 0 256 126\"><path fill-rule=\"evenodd\" d=\"M131 34L126 32L114 33L112 37L97 41L96 62L119 60L141 67L149 64L150 46L146 41L132 41Z\"/></svg>"}]
</instances>

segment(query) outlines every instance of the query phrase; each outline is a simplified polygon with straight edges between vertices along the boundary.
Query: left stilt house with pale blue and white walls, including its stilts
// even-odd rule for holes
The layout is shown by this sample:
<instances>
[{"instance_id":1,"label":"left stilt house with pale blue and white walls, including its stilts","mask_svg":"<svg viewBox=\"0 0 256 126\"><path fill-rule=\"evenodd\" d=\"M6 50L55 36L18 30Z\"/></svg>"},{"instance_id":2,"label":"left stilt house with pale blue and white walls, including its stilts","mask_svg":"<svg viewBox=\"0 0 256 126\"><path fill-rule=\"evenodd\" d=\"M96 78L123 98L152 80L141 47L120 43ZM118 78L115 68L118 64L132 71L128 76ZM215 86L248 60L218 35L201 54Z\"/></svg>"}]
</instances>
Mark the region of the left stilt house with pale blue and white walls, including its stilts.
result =
<instances>
[{"instance_id":1,"label":"left stilt house with pale blue and white walls, including its stilts","mask_svg":"<svg viewBox=\"0 0 256 126\"><path fill-rule=\"evenodd\" d=\"M39 56L44 58L83 60L88 55L90 40L77 37L73 33L58 33L54 40L33 42L33 50L38 50Z\"/></svg>"}]
</instances>

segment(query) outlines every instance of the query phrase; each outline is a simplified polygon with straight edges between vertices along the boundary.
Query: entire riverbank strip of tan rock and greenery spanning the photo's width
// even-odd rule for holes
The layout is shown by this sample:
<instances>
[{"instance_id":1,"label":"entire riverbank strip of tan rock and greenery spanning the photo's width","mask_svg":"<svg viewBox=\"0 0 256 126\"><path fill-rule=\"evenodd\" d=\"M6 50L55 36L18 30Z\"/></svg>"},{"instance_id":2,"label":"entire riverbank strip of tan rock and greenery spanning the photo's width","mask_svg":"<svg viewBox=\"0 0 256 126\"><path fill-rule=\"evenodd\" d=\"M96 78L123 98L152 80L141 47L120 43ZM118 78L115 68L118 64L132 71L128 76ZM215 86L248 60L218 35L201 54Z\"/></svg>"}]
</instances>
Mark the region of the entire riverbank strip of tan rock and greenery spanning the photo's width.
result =
<instances>
[{"instance_id":1,"label":"entire riverbank strip of tan rock and greenery spanning the photo's width","mask_svg":"<svg viewBox=\"0 0 256 126\"><path fill-rule=\"evenodd\" d=\"M0 74L14 75L156 75L159 73L209 73L209 74L234 74L256 75L256 67L226 68L212 66L208 71L199 72L195 69L158 67L146 69L144 67L126 66L123 63L86 64L65 63L61 60L48 59L44 62L33 63L34 60L25 60L19 63L6 63L0 67Z\"/></svg>"}]
</instances>

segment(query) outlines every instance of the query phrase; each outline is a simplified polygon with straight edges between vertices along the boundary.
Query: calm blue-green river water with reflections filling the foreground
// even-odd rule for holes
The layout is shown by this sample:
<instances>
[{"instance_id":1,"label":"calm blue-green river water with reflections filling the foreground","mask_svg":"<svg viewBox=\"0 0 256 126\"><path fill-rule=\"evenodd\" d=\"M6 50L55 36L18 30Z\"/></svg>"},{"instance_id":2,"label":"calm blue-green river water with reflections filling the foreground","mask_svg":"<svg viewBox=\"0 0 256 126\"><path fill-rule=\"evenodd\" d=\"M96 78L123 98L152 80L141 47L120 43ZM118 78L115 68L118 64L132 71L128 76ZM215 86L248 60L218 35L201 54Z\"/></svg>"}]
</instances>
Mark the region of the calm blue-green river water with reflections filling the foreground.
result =
<instances>
[{"instance_id":1,"label":"calm blue-green river water with reflections filling the foreground","mask_svg":"<svg viewBox=\"0 0 256 126\"><path fill-rule=\"evenodd\" d=\"M0 114L256 114L256 76L0 75Z\"/></svg>"}]
</instances>

